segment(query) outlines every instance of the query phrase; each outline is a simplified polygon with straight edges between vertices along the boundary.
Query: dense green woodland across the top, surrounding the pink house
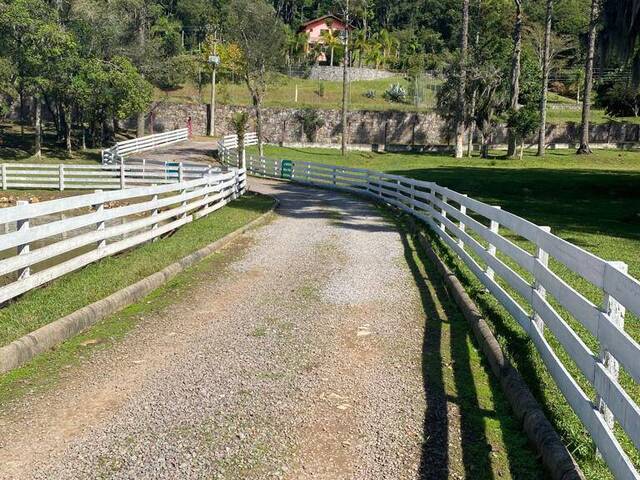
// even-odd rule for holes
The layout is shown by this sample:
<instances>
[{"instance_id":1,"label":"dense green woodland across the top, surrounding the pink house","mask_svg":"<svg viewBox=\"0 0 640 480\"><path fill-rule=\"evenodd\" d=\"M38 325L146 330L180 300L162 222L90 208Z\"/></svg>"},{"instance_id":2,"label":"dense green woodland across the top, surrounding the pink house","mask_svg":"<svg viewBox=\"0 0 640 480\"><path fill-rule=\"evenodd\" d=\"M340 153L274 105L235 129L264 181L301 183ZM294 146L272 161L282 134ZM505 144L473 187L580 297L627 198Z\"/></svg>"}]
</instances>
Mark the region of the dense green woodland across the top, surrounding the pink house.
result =
<instances>
[{"instance_id":1,"label":"dense green woodland across the top, surrounding the pink house","mask_svg":"<svg viewBox=\"0 0 640 480\"><path fill-rule=\"evenodd\" d=\"M134 115L142 133L154 87L202 85L215 53L259 115L270 72L317 59L299 26L347 7L352 64L440 72L438 111L458 147L472 128L488 142L497 122L523 138L541 120L541 83L580 99L594 72L597 101L640 113L635 0L0 0L0 114L29 103L39 129L46 109L69 150ZM316 48L344 57L331 31Z\"/></svg>"}]
</instances>

